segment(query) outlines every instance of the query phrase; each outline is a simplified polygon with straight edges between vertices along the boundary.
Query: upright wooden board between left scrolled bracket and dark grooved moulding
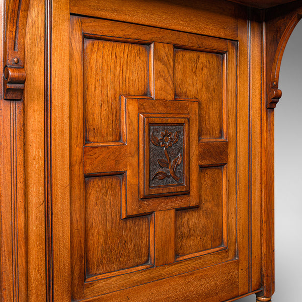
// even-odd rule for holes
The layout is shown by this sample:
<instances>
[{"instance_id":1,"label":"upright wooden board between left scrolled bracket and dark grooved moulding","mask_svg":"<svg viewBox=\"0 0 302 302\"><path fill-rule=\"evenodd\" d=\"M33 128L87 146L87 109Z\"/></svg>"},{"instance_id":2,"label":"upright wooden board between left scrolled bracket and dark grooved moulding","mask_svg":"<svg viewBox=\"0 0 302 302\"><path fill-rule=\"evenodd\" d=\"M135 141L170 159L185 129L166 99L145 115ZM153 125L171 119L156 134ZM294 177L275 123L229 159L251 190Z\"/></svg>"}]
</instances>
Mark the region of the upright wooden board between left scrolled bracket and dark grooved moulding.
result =
<instances>
[{"instance_id":1,"label":"upright wooden board between left scrolled bracket and dark grooved moulding","mask_svg":"<svg viewBox=\"0 0 302 302\"><path fill-rule=\"evenodd\" d=\"M31 36L30 33L35 35ZM25 69L27 83L24 91L25 114L25 171L27 199L27 265L28 292L22 299L44 302L46 300L46 247L45 247L45 87L41 70L44 70L45 51L44 1L31 0L27 20ZM26 263L26 261L25 261ZM40 276L37 278L37 276ZM50 287L50 286L49 286ZM21 296L20 296L21 298ZM21 299L20 299L21 300Z\"/></svg>"}]
</instances>

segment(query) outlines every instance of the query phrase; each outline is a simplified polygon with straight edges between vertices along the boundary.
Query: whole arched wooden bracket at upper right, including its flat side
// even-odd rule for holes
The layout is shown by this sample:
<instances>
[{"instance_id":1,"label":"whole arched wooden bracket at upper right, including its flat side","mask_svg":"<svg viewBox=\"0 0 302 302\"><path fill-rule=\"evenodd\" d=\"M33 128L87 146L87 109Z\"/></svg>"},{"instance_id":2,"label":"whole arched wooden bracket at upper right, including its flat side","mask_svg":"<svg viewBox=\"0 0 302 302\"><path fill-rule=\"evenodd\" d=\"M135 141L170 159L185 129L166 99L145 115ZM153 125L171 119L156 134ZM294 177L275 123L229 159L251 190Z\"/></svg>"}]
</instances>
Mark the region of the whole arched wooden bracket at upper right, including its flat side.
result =
<instances>
[{"instance_id":1,"label":"whole arched wooden bracket at upper right, including its flat side","mask_svg":"<svg viewBox=\"0 0 302 302\"><path fill-rule=\"evenodd\" d=\"M294 30L295 26L298 24L300 19L302 18L302 12L296 11L286 18L283 19L283 22L279 25L278 23L274 24L274 28L267 27L266 28L266 70L267 74L267 101L266 107L270 109L274 109L279 99L282 96L282 92L278 89L279 86L279 73L280 66L282 61L282 56L288 42L288 39ZM269 23L268 23L269 24ZM276 36L280 35L279 39L276 39ZM275 39L275 44L270 43L270 39ZM276 47L276 50L274 48ZM272 61L273 60L273 61ZM270 77L270 79L268 79Z\"/></svg>"}]
</instances>

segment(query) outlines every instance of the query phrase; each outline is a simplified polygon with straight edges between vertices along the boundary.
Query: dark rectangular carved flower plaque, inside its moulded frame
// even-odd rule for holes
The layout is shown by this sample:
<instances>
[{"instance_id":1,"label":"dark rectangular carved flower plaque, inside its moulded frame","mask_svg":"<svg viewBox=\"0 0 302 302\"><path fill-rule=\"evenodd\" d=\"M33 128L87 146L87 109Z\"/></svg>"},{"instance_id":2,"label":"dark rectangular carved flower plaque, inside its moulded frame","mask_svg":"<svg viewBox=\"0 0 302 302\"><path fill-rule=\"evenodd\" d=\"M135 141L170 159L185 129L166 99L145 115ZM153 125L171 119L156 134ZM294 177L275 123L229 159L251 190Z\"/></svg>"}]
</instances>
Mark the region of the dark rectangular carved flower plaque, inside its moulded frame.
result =
<instances>
[{"instance_id":1,"label":"dark rectangular carved flower plaque, inside its moulded frame","mask_svg":"<svg viewBox=\"0 0 302 302\"><path fill-rule=\"evenodd\" d=\"M183 183L183 136L183 125L150 125L150 187Z\"/></svg>"}]
</instances>

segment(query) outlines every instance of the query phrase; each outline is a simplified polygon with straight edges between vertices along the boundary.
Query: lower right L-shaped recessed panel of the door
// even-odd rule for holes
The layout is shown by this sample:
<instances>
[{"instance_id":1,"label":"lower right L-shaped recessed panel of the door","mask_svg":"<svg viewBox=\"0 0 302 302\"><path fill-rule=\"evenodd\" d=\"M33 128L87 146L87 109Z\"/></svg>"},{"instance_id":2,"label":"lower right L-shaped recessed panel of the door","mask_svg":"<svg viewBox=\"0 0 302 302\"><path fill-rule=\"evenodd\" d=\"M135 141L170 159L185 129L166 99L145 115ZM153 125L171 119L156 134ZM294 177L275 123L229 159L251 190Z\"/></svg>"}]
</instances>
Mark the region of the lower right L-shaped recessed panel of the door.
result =
<instances>
[{"instance_id":1,"label":"lower right L-shaped recessed panel of the door","mask_svg":"<svg viewBox=\"0 0 302 302\"><path fill-rule=\"evenodd\" d=\"M176 211L176 257L223 245L223 167L199 169L199 207Z\"/></svg>"}]
</instances>

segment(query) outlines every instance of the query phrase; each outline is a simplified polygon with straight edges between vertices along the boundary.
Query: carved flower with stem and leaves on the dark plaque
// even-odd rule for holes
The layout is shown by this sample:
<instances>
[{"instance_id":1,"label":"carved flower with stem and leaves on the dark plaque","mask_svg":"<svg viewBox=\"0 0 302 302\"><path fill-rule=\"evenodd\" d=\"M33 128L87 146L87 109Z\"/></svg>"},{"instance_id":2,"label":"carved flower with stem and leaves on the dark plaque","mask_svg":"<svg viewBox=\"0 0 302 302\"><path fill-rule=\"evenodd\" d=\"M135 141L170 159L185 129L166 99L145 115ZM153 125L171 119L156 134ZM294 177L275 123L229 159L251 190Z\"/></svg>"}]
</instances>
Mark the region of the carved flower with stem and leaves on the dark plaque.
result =
<instances>
[{"instance_id":1,"label":"carved flower with stem and leaves on the dark plaque","mask_svg":"<svg viewBox=\"0 0 302 302\"><path fill-rule=\"evenodd\" d=\"M168 168L170 173L168 174L166 173L166 171L158 171L153 175L152 180L154 179L163 180L166 177L168 178L172 177L175 181L179 181L180 178L176 175L175 172L177 166L179 166L182 161L182 156L179 153L179 155L173 161L171 161L170 156L168 154L168 148L169 147L172 148L173 144L178 142L179 133L180 131L176 131L172 134L172 132L169 132L167 129L165 129L164 132L161 132L160 138L154 135L153 133L151 133L150 140L155 146L163 147L166 156L166 159L158 159L158 163L162 168Z\"/></svg>"}]
</instances>

